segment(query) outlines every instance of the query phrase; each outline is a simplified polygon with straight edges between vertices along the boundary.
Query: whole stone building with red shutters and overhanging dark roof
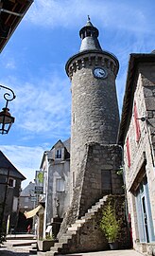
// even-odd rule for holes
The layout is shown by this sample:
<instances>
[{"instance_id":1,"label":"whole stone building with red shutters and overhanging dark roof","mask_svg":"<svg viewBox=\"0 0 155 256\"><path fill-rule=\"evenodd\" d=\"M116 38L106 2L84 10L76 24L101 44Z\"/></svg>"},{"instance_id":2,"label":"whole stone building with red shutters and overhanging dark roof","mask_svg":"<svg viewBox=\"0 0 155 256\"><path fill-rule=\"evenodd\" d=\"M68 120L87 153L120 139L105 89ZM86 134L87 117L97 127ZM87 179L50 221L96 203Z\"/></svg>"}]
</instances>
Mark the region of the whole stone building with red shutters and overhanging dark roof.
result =
<instances>
[{"instance_id":1,"label":"whole stone building with red shutters and overhanging dark roof","mask_svg":"<svg viewBox=\"0 0 155 256\"><path fill-rule=\"evenodd\" d=\"M142 252L147 250L150 255L152 247L155 247L154 53L130 54L118 135L118 143L124 152L124 177L133 247Z\"/></svg>"}]
</instances>

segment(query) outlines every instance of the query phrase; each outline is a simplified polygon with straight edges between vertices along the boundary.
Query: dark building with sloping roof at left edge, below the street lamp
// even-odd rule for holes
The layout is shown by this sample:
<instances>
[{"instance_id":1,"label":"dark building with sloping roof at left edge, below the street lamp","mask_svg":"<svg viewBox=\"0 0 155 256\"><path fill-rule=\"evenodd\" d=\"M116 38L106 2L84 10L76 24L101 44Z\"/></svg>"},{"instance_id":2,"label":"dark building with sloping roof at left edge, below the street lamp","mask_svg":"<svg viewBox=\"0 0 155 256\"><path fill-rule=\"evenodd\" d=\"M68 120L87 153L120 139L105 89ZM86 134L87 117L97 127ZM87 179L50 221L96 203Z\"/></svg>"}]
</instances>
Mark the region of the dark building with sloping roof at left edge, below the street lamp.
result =
<instances>
[{"instance_id":1,"label":"dark building with sloping roof at left edge, below the street lamp","mask_svg":"<svg viewBox=\"0 0 155 256\"><path fill-rule=\"evenodd\" d=\"M21 182L25 179L0 151L0 234L6 233L7 223L9 230L17 228Z\"/></svg>"}]
</instances>

